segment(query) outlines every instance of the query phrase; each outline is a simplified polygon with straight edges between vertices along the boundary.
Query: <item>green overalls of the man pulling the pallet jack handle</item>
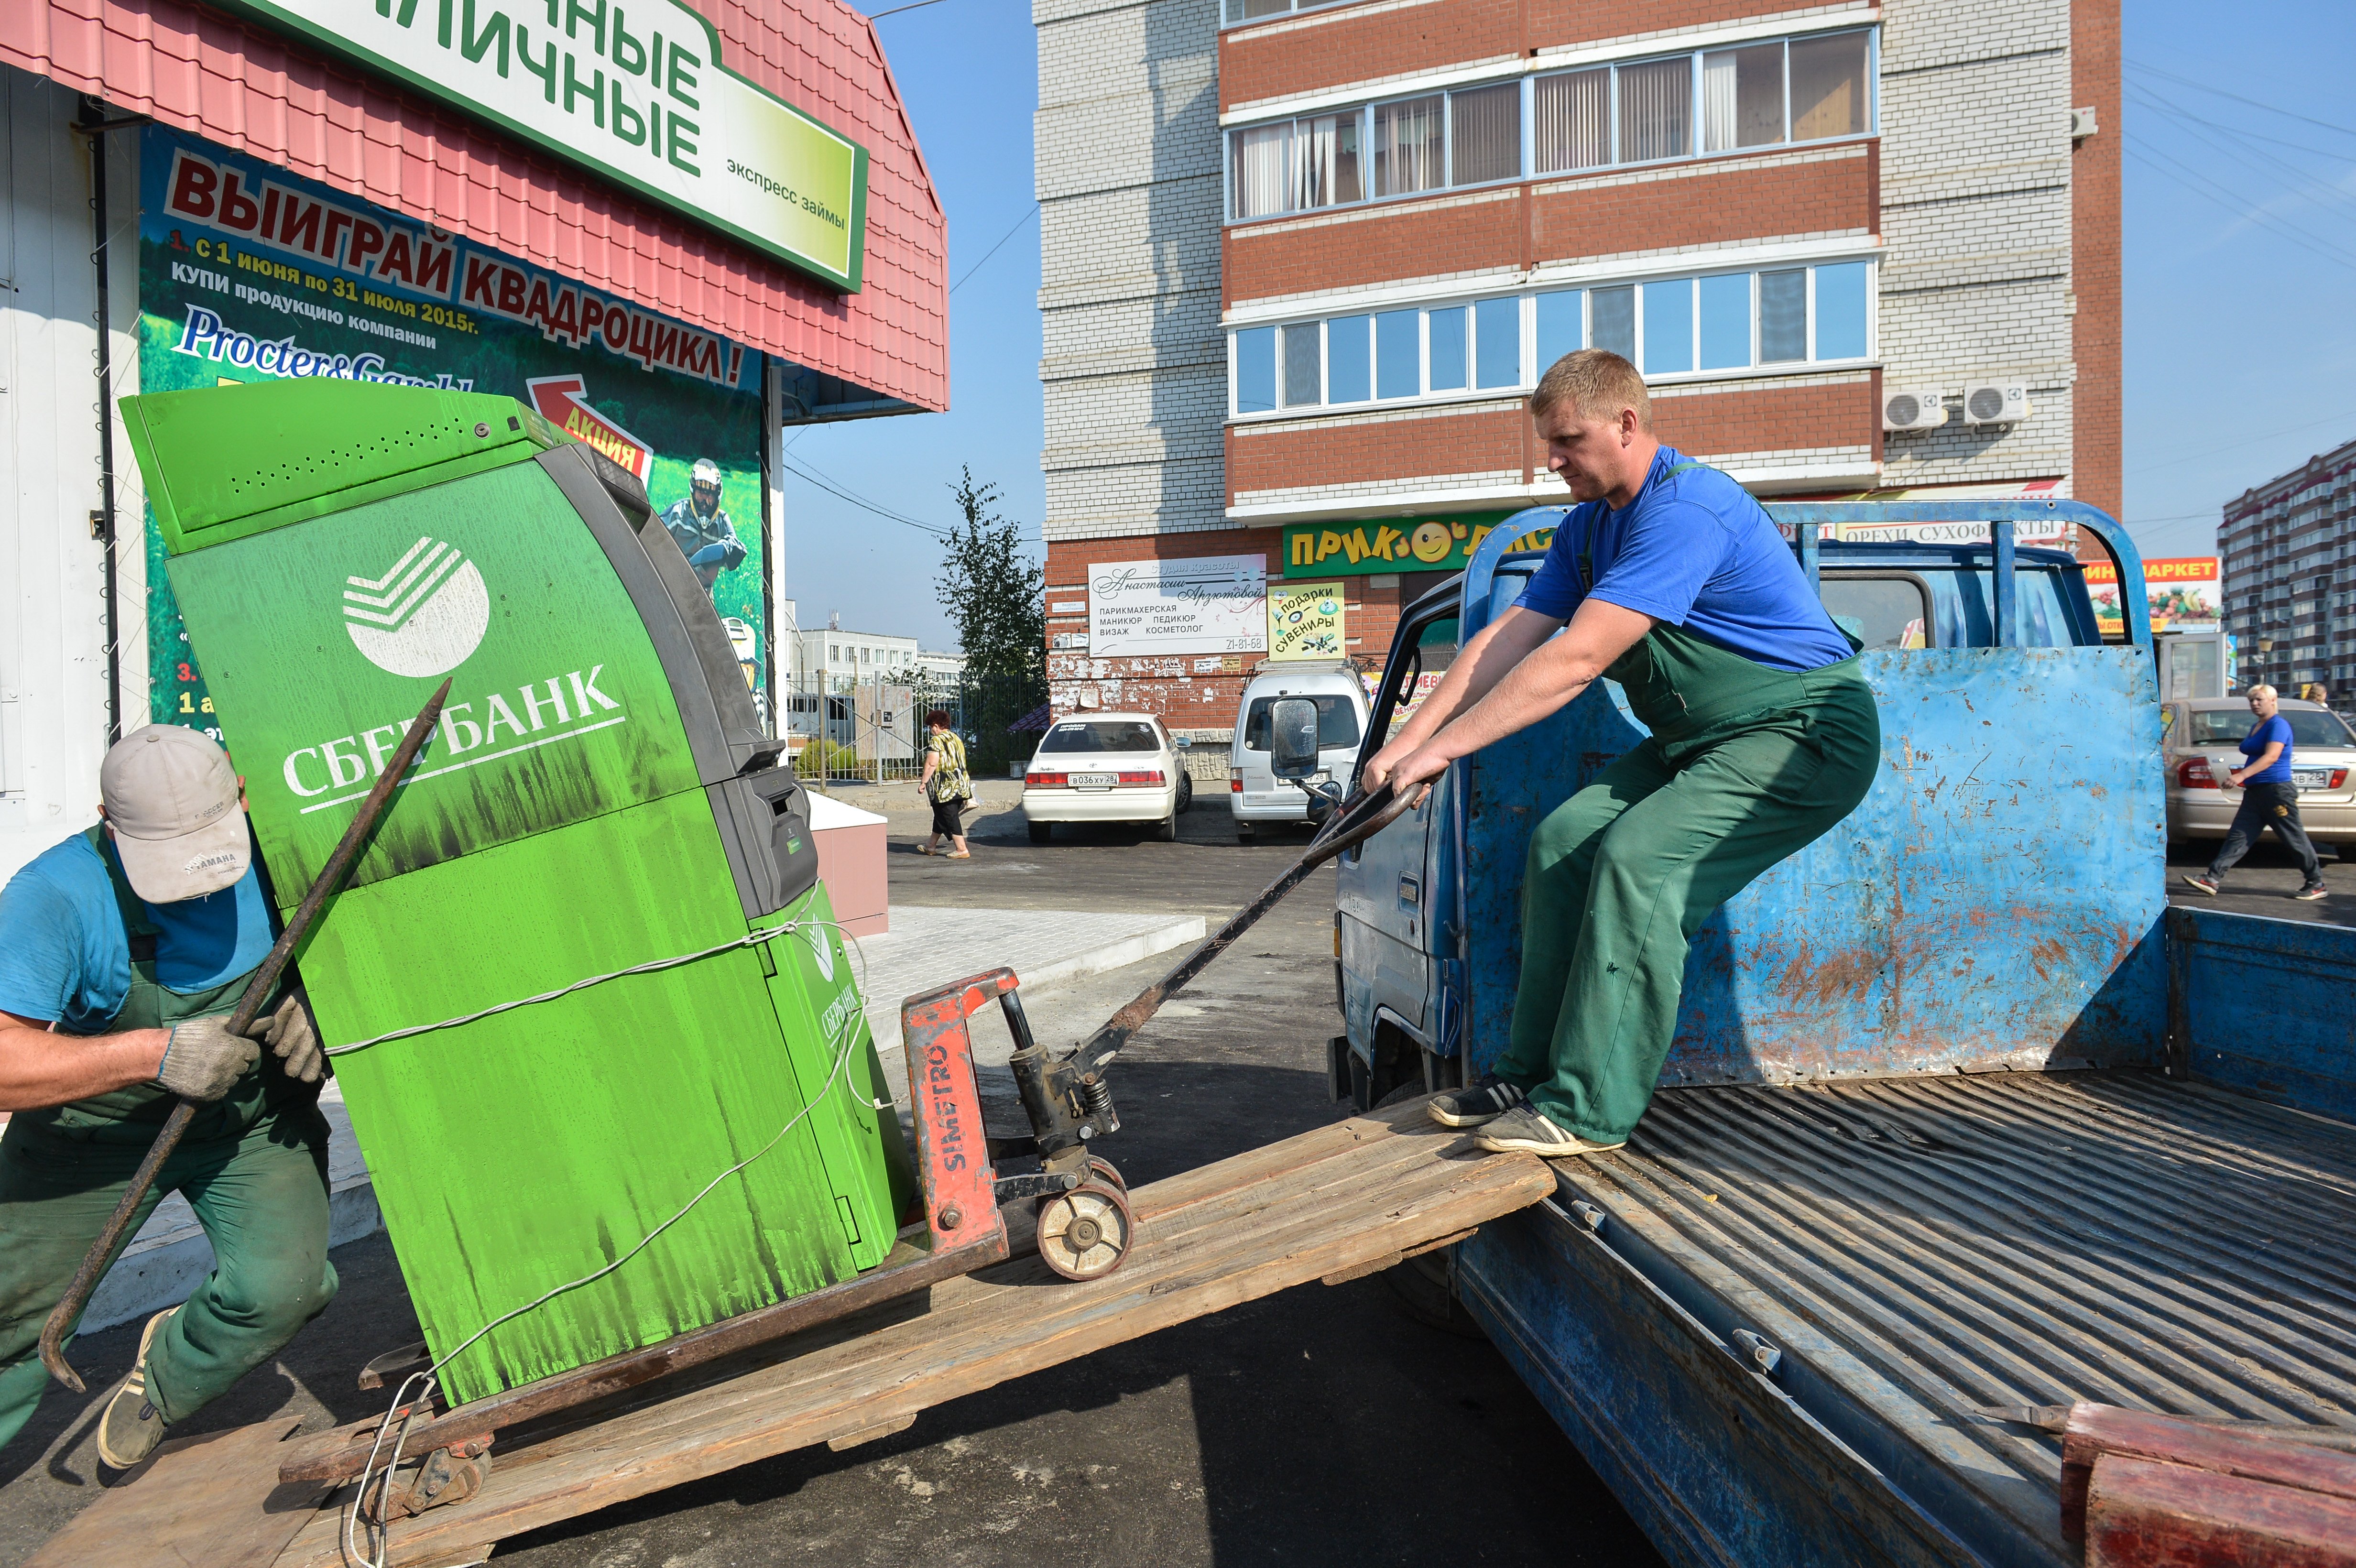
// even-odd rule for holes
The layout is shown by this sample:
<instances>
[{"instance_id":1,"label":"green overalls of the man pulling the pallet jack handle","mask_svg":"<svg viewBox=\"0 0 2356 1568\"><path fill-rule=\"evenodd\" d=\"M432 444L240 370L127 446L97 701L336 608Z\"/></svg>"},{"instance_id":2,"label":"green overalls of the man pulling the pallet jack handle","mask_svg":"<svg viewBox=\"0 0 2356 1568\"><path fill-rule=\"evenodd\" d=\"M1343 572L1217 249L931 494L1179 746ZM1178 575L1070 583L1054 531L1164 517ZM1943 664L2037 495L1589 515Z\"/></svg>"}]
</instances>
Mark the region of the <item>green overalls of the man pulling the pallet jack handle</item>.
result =
<instances>
[{"instance_id":1,"label":"green overalls of the man pulling the pallet jack handle","mask_svg":"<svg viewBox=\"0 0 2356 1568\"><path fill-rule=\"evenodd\" d=\"M1880 716L1854 652L1779 671L1670 624L1604 676L1652 735L1529 838L1522 977L1496 1074L1557 1125L1616 1144L1652 1104L1694 932L1866 798Z\"/></svg>"}]
</instances>

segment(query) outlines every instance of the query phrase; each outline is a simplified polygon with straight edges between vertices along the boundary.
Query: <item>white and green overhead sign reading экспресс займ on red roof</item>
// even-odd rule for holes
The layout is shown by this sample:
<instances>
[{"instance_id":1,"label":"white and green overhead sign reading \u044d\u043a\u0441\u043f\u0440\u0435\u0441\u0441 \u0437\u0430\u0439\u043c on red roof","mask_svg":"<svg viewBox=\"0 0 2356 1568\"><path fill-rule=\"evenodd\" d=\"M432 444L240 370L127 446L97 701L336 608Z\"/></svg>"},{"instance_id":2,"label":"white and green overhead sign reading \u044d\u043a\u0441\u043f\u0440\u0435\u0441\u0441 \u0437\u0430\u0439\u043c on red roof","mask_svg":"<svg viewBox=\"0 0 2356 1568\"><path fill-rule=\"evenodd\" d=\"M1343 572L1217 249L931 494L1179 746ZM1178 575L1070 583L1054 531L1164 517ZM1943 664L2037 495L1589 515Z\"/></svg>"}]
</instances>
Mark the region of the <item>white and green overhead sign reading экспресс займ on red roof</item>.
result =
<instances>
[{"instance_id":1,"label":"white and green overhead sign reading \u044d\u043a\u0441\u043f\u0440\u0435\u0441\u0441 \u0437\u0430\u0439\u043c on red roof","mask_svg":"<svg viewBox=\"0 0 2356 1568\"><path fill-rule=\"evenodd\" d=\"M867 148L728 71L719 31L686 0L221 5L860 287Z\"/></svg>"}]
</instances>

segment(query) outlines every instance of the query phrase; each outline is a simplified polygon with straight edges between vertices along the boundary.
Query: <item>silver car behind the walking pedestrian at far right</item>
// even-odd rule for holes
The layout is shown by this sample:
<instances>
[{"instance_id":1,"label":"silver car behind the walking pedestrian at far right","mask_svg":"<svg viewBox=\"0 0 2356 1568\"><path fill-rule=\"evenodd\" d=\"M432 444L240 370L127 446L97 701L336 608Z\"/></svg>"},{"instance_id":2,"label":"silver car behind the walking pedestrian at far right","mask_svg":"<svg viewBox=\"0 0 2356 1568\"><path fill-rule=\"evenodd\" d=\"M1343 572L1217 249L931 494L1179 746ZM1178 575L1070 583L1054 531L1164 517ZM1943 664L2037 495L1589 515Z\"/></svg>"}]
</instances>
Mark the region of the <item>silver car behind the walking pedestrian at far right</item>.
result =
<instances>
[{"instance_id":1,"label":"silver car behind the walking pedestrian at far right","mask_svg":"<svg viewBox=\"0 0 2356 1568\"><path fill-rule=\"evenodd\" d=\"M2356 859L2356 732L2321 702L2283 697L2290 720L2290 782L2299 786L2299 822L2316 848ZM2168 768L2168 841L2224 838L2241 805L2226 770L2241 768L2241 737L2257 720L2248 697L2189 697L2163 706Z\"/></svg>"}]
</instances>

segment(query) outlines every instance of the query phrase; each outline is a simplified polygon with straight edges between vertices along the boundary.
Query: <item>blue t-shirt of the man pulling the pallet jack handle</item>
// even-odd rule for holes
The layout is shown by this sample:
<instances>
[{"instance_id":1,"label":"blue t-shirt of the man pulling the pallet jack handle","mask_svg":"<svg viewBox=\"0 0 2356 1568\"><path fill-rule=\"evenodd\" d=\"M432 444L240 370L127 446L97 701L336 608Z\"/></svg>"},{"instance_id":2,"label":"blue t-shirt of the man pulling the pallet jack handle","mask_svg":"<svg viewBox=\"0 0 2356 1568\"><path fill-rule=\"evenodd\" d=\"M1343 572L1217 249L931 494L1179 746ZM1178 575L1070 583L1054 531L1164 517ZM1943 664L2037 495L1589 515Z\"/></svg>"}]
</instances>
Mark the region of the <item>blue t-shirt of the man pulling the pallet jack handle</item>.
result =
<instances>
[{"instance_id":1,"label":"blue t-shirt of the man pulling the pallet jack handle","mask_svg":"<svg viewBox=\"0 0 2356 1568\"><path fill-rule=\"evenodd\" d=\"M1593 537L1595 598L1682 626L1767 669L1809 671L1854 652L1826 614L1791 544L1751 492L1718 469L1663 478L1685 457L1661 447L1635 499L1574 506L1513 600L1571 619L1579 551Z\"/></svg>"}]
</instances>

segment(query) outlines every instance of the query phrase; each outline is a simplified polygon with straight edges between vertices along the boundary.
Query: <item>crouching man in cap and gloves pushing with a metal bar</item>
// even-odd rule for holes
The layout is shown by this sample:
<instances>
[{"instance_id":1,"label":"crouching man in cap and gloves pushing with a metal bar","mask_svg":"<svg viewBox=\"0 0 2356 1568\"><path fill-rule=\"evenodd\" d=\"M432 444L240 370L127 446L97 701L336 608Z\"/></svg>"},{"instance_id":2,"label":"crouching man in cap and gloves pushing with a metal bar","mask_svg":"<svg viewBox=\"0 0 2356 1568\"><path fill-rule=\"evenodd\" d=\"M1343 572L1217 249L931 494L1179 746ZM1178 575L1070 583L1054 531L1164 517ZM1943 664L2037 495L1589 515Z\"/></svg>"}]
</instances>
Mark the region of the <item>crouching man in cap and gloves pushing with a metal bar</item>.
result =
<instances>
[{"instance_id":1,"label":"crouching man in cap and gloves pushing with a metal bar","mask_svg":"<svg viewBox=\"0 0 2356 1568\"><path fill-rule=\"evenodd\" d=\"M229 1031L278 937L236 770L196 730L148 725L108 749L99 796L99 826L0 890L0 1446L49 1380L49 1309L186 1097L196 1121L137 1224L184 1194L214 1267L148 1321L99 1417L99 1457L127 1469L318 1316L335 1267L309 1008L280 986L254 1038Z\"/></svg>"}]
</instances>

